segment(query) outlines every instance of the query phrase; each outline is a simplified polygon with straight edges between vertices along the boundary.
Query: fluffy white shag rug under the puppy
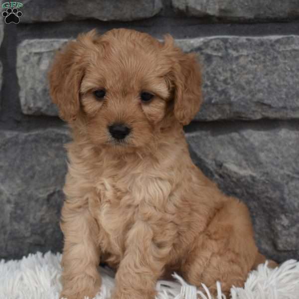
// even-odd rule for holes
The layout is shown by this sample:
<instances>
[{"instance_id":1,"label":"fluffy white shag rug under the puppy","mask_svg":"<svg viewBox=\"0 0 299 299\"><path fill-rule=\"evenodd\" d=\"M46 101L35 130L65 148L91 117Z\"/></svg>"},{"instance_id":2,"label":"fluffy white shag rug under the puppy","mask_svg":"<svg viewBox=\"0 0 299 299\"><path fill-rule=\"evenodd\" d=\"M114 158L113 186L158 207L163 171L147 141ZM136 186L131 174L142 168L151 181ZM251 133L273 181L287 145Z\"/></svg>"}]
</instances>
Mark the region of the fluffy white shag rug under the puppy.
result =
<instances>
[{"instance_id":1,"label":"fluffy white shag rug under the puppy","mask_svg":"<svg viewBox=\"0 0 299 299\"><path fill-rule=\"evenodd\" d=\"M0 299L59 299L61 254L30 254L19 261L0 261ZM100 268L103 285L96 299L109 299L114 287L111 270ZM158 299L212 299L209 290L197 291L178 275L176 282L158 281ZM215 299L226 299L217 283ZM279 268L266 264L252 271L244 288L231 289L232 299L299 299L299 262L289 260Z\"/></svg>"}]
</instances>

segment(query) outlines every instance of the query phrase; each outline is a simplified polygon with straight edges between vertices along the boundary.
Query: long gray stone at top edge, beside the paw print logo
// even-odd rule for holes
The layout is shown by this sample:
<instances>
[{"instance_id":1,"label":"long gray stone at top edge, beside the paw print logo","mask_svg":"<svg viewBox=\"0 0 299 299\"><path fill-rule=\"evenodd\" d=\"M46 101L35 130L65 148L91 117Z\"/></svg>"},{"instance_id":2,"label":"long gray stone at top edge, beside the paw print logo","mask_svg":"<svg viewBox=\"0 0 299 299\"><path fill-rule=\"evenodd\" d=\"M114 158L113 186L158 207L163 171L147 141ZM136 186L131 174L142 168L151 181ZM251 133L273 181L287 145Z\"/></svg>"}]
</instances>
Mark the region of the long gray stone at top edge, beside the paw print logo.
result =
<instances>
[{"instance_id":1,"label":"long gray stone at top edge, beside the paw print logo","mask_svg":"<svg viewBox=\"0 0 299 299\"><path fill-rule=\"evenodd\" d=\"M71 19L130 21L149 18L162 8L161 0L28 0L22 8L23 23Z\"/></svg>"}]
</instances>

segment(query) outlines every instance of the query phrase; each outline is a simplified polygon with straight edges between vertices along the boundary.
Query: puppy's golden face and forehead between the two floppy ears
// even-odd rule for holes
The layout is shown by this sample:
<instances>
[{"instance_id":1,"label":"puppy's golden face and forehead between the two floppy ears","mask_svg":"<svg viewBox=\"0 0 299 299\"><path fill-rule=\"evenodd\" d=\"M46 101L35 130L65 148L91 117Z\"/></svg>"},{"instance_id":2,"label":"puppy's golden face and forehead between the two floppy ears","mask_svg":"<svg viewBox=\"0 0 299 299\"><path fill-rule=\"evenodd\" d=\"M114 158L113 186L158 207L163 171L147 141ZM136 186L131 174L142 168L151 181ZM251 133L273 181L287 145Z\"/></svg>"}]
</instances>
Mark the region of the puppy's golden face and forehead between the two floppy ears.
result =
<instances>
[{"instance_id":1,"label":"puppy's golden face and forehead between the two floppy ears","mask_svg":"<svg viewBox=\"0 0 299 299\"><path fill-rule=\"evenodd\" d=\"M101 42L80 86L88 134L97 144L143 147L170 100L158 44L141 46L109 35Z\"/></svg>"}]
</instances>

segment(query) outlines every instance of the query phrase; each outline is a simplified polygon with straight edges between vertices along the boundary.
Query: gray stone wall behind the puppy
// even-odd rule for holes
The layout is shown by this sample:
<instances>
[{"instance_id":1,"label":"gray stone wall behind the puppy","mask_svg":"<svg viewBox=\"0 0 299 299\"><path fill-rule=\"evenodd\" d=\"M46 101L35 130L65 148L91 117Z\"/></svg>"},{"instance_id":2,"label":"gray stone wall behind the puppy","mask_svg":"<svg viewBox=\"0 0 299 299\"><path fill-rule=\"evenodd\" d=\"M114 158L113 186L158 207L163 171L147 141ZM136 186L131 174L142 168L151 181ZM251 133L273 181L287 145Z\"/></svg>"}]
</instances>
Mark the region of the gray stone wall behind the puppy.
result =
<instances>
[{"instance_id":1,"label":"gray stone wall behind the puppy","mask_svg":"<svg viewBox=\"0 0 299 299\"><path fill-rule=\"evenodd\" d=\"M28 0L20 9L19 24L0 19L0 258L62 248L69 136L46 81L55 50L79 32L125 27L171 33L197 53L205 101L185 128L191 156L247 203L264 254L299 259L298 0Z\"/></svg>"}]
</instances>

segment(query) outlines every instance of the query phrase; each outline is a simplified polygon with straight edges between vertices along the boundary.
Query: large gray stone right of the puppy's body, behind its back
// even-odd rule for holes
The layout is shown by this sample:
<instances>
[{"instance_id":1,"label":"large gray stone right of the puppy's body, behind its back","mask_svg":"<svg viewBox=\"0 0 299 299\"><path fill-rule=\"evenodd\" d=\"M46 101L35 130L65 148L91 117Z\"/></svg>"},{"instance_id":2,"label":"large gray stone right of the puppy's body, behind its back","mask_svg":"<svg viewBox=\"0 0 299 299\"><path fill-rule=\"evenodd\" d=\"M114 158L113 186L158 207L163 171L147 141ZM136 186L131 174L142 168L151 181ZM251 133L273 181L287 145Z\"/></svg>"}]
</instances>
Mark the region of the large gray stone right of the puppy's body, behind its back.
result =
<instances>
[{"instance_id":1,"label":"large gray stone right of the puppy's body, behind its back","mask_svg":"<svg viewBox=\"0 0 299 299\"><path fill-rule=\"evenodd\" d=\"M245 201L268 258L299 259L299 124L198 125L191 157L227 194Z\"/></svg>"}]
</instances>

